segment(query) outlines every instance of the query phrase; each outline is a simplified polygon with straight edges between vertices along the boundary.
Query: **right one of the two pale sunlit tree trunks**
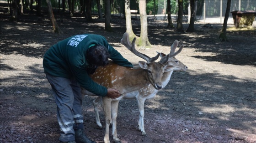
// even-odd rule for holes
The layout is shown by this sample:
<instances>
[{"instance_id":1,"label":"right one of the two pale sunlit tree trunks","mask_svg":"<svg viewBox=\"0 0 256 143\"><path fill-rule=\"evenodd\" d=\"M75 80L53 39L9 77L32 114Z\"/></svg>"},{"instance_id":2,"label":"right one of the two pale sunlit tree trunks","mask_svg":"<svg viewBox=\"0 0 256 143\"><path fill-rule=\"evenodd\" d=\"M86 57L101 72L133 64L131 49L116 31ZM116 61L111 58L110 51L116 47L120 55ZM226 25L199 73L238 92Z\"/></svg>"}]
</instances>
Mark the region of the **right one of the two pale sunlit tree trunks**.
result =
<instances>
[{"instance_id":1,"label":"right one of the two pale sunlit tree trunks","mask_svg":"<svg viewBox=\"0 0 256 143\"><path fill-rule=\"evenodd\" d=\"M151 48L148 38L148 20L146 12L146 0L139 0L140 15L140 38L138 39L140 49Z\"/></svg>"}]
</instances>

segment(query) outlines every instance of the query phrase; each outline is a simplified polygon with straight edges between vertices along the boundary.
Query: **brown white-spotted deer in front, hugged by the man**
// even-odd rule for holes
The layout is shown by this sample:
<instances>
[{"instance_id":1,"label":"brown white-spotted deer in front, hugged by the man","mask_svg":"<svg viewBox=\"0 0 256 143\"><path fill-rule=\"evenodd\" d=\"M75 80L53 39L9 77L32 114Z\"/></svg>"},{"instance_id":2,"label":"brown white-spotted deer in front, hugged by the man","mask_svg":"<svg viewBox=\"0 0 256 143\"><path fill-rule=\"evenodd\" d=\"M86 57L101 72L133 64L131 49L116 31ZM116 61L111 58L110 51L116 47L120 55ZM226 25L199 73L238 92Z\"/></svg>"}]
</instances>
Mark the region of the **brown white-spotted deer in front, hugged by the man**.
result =
<instances>
[{"instance_id":1,"label":"brown white-spotted deer in front, hugged by the man","mask_svg":"<svg viewBox=\"0 0 256 143\"><path fill-rule=\"evenodd\" d=\"M150 58L149 56L140 53L135 49L136 37L133 39L132 43L129 42L128 33L123 34L121 43L127 47L133 54L141 57L145 61L139 61L140 68L133 69L129 67L119 66L113 62L110 62L107 66L98 67L96 71L90 75L91 79L107 88L114 88L121 93L120 97L112 99L110 97L101 97L102 107L105 114L105 136L104 143L110 143L109 140L109 126L112 122L112 136L115 143L121 143L120 139L117 137L117 109L119 101L124 97L125 94L139 90L143 87L148 87L152 85L156 90L160 90L162 85L162 76L164 72L172 71L176 68L173 65L166 65L169 56L167 55L160 59L160 61L155 62L160 53L157 56ZM82 95L97 96L91 92L88 92L81 87Z\"/></svg>"}]
</instances>

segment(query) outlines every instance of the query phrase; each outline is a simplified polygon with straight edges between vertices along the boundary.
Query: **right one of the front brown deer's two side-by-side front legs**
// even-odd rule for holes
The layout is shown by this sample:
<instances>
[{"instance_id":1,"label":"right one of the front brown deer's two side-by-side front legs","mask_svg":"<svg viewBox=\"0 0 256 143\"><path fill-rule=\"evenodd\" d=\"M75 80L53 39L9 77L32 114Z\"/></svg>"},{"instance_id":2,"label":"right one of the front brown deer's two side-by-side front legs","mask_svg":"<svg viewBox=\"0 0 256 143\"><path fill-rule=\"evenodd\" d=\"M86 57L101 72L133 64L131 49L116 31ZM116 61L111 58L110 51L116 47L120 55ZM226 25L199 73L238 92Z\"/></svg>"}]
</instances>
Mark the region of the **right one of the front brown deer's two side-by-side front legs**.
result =
<instances>
[{"instance_id":1,"label":"right one of the front brown deer's two side-by-side front legs","mask_svg":"<svg viewBox=\"0 0 256 143\"><path fill-rule=\"evenodd\" d=\"M120 139L117 137L117 111L118 111L117 101L112 101L111 103L111 117L112 117L112 135L115 143L121 143Z\"/></svg>"}]
</instances>

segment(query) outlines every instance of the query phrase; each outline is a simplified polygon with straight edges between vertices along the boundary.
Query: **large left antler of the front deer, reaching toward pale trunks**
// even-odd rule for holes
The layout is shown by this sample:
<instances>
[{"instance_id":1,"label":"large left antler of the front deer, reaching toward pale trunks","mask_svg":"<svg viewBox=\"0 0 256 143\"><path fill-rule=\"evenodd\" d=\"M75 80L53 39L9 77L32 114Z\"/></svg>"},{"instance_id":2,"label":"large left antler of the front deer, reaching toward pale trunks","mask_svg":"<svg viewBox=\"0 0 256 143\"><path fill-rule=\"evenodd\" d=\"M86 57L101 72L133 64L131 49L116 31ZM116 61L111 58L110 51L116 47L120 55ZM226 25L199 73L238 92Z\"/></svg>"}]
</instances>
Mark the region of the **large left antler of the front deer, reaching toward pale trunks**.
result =
<instances>
[{"instance_id":1,"label":"large left antler of the front deer, reaching toward pale trunks","mask_svg":"<svg viewBox=\"0 0 256 143\"><path fill-rule=\"evenodd\" d=\"M143 58L143 59L146 60L147 62L153 62L153 61L155 61L155 60L158 59L160 53L157 54L155 57L150 58L149 56L147 56L147 55L145 55L145 54L140 53L139 51L137 51L137 50L135 49L135 41L136 41L136 37L133 38L132 44L130 43L130 41L129 41L129 35L128 35L127 32L125 32L125 33L123 34L123 38L121 39L121 43L122 43L125 47L127 47L131 52L133 52L133 54L135 54L136 56L139 56L139 57Z\"/></svg>"}]
</instances>

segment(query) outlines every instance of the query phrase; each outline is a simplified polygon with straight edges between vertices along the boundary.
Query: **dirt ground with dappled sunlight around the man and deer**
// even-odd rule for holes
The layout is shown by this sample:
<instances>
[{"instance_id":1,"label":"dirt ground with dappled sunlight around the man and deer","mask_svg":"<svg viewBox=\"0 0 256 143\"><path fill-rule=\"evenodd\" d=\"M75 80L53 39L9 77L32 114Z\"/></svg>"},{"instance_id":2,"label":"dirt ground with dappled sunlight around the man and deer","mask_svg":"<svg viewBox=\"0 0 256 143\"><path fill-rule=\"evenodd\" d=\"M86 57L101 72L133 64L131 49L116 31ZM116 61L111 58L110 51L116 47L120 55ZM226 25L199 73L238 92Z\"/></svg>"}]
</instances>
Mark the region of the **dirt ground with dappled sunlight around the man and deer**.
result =
<instances>
[{"instance_id":1,"label":"dirt ground with dappled sunlight around the man and deer","mask_svg":"<svg viewBox=\"0 0 256 143\"><path fill-rule=\"evenodd\" d=\"M114 33L104 31L104 20L88 23L75 15L55 15L63 34L53 34L48 15L18 15L9 21L0 7L0 142L58 143L59 127L52 91L43 73L43 54L69 36L94 33L105 36L134 66L140 59L120 40L125 20L112 17ZM174 25L176 26L174 20ZM144 105L147 136L138 131L135 100L119 102L117 134L123 143L256 143L256 31L228 31L229 42L218 40L222 25L196 23L197 32L167 29L167 21L148 20L155 56L168 53L173 41L185 47L177 59L187 72L174 72L168 85ZM183 24L188 27L187 23ZM229 25L232 27L233 25ZM133 31L139 35L139 20ZM178 46L179 47L179 46ZM83 113L88 137L103 143L104 129L96 126L94 97L85 97ZM104 114L100 107L101 123ZM111 133L111 132L110 132ZM112 135L110 135L113 142Z\"/></svg>"}]
</instances>

